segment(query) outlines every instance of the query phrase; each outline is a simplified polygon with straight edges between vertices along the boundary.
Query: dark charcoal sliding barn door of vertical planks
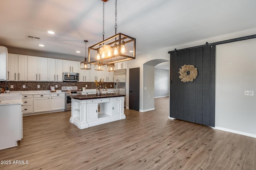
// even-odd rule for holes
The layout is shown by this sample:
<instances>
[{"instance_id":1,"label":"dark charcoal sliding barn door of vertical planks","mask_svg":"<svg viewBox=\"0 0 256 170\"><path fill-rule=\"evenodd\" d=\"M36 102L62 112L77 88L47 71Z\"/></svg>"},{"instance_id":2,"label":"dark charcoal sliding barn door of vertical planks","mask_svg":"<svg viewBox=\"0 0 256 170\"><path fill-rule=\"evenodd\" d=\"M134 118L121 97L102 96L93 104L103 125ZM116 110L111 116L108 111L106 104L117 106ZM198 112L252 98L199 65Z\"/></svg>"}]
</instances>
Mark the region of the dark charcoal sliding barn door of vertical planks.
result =
<instances>
[{"instance_id":1,"label":"dark charcoal sliding barn door of vertical planks","mask_svg":"<svg viewBox=\"0 0 256 170\"><path fill-rule=\"evenodd\" d=\"M215 45L170 52L170 117L215 126ZM182 82L184 64L194 65L198 76Z\"/></svg>"}]
</instances>

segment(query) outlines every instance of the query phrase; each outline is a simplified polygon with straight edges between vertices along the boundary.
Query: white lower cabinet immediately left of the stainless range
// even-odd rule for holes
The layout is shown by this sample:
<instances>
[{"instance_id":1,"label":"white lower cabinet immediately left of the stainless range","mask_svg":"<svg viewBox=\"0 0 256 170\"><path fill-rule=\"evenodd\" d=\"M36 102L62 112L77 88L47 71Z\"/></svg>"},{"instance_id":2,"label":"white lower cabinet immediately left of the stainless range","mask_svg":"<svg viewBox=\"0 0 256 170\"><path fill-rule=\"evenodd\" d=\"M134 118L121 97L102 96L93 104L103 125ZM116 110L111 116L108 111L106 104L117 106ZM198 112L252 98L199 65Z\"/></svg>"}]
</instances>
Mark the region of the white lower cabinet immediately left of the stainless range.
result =
<instances>
[{"instance_id":1,"label":"white lower cabinet immediately left of the stainless range","mask_svg":"<svg viewBox=\"0 0 256 170\"><path fill-rule=\"evenodd\" d=\"M50 111L65 109L65 94L51 94Z\"/></svg>"}]
</instances>

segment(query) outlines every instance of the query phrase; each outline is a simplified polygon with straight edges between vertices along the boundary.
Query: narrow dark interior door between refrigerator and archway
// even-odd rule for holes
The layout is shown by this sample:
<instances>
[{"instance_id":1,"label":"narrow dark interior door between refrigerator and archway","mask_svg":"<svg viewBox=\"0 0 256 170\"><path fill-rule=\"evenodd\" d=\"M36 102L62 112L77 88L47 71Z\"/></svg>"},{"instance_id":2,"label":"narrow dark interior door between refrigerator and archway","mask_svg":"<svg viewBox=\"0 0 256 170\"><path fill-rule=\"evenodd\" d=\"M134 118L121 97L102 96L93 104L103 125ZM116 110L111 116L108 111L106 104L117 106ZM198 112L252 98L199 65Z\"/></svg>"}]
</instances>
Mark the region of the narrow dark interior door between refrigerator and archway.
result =
<instances>
[{"instance_id":1,"label":"narrow dark interior door between refrigerator and archway","mask_svg":"<svg viewBox=\"0 0 256 170\"><path fill-rule=\"evenodd\" d=\"M140 68L129 69L129 109L140 109Z\"/></svg>"}]
</instances>

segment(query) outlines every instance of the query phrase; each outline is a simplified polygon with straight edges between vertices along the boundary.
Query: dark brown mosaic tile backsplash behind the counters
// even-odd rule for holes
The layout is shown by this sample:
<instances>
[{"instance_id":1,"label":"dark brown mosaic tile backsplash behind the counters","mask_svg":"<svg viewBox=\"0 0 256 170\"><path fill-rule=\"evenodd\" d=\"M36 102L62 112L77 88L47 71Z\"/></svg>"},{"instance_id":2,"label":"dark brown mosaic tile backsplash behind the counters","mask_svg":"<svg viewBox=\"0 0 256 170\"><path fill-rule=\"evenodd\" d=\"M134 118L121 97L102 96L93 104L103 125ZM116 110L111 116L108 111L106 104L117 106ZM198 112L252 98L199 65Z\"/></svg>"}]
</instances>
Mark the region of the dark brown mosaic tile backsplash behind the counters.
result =
<instances>
[{"instance_id":1,"label":"dark brown mosaic tile backsplash behind the counters","mask_svg":"<svg viewBox=\"0 0 256 170\"><path fill-rule=\"evenodd\" d=\"M11 88L11 85L13 88ZM23 88L23 85L26 88ZM38 85L40 88L38 88ZM10 91L50 90L50 86L55 85L58 85L58 88L55 88L56 90L61 90L61 86L77 86L78 89L82 89L87 85L87 89L96 88L95 82L8 82ZM103 85L107 85L107 88L114 88L114 83L112 82L104 82ZM0 82L0 88L6 89L6 82Z\"/></svg>"}]
</instances>

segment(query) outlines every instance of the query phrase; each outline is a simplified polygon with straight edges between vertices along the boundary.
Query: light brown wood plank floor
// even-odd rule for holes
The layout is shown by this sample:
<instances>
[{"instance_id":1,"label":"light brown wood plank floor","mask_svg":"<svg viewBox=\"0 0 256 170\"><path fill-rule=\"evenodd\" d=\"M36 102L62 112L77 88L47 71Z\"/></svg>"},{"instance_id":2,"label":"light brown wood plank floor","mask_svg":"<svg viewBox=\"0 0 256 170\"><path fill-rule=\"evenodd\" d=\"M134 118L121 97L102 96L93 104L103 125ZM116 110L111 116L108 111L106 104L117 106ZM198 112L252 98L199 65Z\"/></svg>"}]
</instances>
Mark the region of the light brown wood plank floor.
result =
<instances>
[{"instance_id":1,"label":"light brown wood plank floor","mask_svg":"<svg viewBox=\"0 0 256 170\"><path fill-rule=\"evenodd\" d=\"M71 112L23 117L18 147L0 150L10 170L255 170L256 139L168 119L169 98L155 110L125 109L126 119L78 129Z\"/></svg>"}]
</instances>

